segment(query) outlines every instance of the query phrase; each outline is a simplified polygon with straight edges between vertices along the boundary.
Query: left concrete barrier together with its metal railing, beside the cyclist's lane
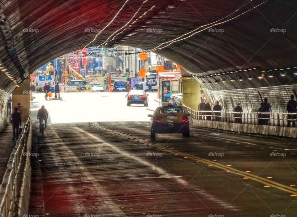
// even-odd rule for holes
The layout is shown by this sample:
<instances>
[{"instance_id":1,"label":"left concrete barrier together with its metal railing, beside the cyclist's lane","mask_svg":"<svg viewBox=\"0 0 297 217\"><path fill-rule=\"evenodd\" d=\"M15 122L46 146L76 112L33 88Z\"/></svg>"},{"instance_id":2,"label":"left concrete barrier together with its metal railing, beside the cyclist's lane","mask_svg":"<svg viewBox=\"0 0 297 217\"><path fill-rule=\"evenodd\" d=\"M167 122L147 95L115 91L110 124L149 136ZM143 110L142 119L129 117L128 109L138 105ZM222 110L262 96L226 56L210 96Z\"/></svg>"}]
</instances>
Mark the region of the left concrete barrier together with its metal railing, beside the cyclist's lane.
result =
<instances>
[{"instance_id":1,"label":"left concrete barrier together with its metal railing, beside the cyclist's lane","mask_svg":"<svg viewBox=\"0 0 297 217\"><path fill-rule=\"evenodd\" d=\"M19 135L0 185L0 216L23 216L28 213L31 186L30 155L32 124L30 116Z\"/></svg>"}]
</instances>

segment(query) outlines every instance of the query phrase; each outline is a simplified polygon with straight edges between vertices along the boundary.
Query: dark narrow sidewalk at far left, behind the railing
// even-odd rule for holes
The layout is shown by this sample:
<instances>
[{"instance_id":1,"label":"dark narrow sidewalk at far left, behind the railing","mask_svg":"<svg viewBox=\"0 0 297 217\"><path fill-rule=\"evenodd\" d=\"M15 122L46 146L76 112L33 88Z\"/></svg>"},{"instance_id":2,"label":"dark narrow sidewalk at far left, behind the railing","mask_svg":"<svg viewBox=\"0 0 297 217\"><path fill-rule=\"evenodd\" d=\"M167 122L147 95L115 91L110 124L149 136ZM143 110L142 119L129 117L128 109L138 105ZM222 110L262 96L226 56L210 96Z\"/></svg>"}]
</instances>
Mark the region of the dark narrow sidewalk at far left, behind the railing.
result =
<instances>
[{"instance_id":1,"label":"dark narrow sidewalk at far left, behind the railing","mask_svg":"<svg viewBox=\"0 0 297 217\"><path fill-rule=\"evenodd\" d=\"M0 183L2 183L3 175L7 168L7 163L10 158L10 154L15 148L15 141L12 141L12 128L11 124L6 124L6 129L0 132Z\"/></svg>"}]
</instances>

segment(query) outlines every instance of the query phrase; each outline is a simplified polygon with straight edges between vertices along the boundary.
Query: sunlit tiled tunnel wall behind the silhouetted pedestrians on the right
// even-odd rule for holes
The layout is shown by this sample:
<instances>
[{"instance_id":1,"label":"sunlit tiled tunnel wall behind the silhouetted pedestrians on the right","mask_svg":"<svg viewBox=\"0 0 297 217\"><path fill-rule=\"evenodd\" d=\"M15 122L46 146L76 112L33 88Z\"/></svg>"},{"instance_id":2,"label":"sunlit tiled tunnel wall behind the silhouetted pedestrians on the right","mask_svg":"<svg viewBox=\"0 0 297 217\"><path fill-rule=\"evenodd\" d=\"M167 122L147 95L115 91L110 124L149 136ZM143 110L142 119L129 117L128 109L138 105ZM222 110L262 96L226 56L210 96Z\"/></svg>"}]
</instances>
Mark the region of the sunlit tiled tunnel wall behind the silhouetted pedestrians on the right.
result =
<instances>
[{"instance_id":1,"label":"sunlit tiled tunnel wall behind the silhouetted pedestrians on the right","mask_svg":"<svg viewBox=\"0 0 297 217\"><path fill-rule=\"evenodd\" d=\"M210 91L205 88L203 90L206 95L206 102L209 102L212 108L216 101L219 101L224 111L231 112L236 106L236 103L239 102L243 108L243 112L257 112L262 102L260 98L261 95L263 100L267 97L273 112L285 113L287 102L291 99L291 95L294 94L293 89L297 91L297 85L224 91Z\"/></svg>"}]
</instances>

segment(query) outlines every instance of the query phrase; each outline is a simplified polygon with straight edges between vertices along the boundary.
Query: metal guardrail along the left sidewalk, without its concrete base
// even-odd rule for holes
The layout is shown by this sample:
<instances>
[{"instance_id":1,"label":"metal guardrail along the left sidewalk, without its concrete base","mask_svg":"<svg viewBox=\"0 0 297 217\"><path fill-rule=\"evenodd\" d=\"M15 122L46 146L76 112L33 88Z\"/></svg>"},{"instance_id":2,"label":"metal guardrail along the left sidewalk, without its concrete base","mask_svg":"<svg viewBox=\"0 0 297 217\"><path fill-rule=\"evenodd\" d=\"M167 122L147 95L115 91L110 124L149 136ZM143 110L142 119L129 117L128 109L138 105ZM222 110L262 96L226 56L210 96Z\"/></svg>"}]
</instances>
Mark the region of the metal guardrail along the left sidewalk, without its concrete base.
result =
<instances>
[{"instance_id":1,"label":"metal guardrail along the left sidewalk, without its concrete base","mask_svg":"<svg viewBox=\"0 0 297 217\"><path fill-rule=\"evenodd\" d=\"M24 168L27 165L26 162L30 161L28 155L24 154L28 143L31 144L32 135L30 129L31 121L29 116L24 123L19 139L16 141L0 185L0 216L11 217L18 215Z\"/></svg>"}]
</instances>

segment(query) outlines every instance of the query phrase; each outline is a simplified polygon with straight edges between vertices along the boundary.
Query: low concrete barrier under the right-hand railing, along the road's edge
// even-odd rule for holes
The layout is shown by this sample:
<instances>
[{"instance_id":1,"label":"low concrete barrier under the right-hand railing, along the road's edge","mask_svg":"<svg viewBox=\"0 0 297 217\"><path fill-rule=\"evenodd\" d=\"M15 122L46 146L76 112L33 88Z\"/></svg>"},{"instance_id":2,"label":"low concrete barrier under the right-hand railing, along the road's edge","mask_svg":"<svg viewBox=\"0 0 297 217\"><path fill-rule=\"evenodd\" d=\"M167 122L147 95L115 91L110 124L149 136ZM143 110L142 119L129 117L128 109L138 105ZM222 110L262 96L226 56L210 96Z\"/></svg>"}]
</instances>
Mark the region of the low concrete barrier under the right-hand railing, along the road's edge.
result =
<instances>
[{"instance_id":1,"label":"low concrete barrier under the right-hand railing, along the road's edge","mask_svg":"<svg viewBox=\"0 0 297 217\"><path fill-rule=\"evenodd\" d=\"M212 128L224 131L234 131L241 133L253 133L262 135L274 135L282 137L295 138L297 135L297 127L286 126L270 126L270 125L256 125L256 124L240 124L219 121L206 121L192 119L193 126L201 128Z\"/></svg>"}]
</instances>

